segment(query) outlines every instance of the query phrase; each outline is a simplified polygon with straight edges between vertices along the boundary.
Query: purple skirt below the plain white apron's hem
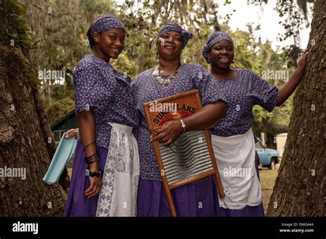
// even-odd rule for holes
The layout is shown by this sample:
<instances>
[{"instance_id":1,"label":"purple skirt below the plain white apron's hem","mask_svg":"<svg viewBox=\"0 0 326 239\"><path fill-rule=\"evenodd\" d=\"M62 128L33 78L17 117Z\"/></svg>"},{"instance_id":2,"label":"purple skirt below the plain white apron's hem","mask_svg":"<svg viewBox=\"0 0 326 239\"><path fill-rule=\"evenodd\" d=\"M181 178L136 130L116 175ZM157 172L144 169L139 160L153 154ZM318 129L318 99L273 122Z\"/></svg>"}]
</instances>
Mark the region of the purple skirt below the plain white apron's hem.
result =
<instances>
[{"instance_id":1,"label":"purple skirt below the plain white apron's hem","mask_svg":"<svg viewBox=\"0 0 326 239\"><path fill-rule=\"evenodd\" d=\"M255 167L259 179L259 169L255 160ZM226 209L219 207L219 216L265 216L263 212L263 203L257 206L246 206L243 209Z\"/></svg>"}]
</instances>

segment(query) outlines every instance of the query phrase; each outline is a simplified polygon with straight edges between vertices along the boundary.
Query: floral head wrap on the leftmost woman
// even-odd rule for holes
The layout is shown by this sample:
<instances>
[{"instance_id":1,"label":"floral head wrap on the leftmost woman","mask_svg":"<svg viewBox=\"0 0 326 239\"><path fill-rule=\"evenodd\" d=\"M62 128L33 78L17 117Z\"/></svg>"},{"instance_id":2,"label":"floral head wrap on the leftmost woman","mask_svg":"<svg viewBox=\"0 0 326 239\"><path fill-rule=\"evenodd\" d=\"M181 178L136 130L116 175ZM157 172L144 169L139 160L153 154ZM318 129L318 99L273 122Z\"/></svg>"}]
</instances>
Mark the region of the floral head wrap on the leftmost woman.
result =
<instances>
[{"instance_id":1,"label":"floral head wrap on the leftmost woman","mask_svg":"<svg viewBox=\"0 0 326 239\"><path fill-rule=\"evenodd\" d=\"M113 28L120 28L124 30L124 32L127 32L122 21L117 19L116 16L107 14L105 16L100 16L94 21L94 23L91 24L90 33L93 34L94 32L105 32Z\"/></svg>"}]
</instances>

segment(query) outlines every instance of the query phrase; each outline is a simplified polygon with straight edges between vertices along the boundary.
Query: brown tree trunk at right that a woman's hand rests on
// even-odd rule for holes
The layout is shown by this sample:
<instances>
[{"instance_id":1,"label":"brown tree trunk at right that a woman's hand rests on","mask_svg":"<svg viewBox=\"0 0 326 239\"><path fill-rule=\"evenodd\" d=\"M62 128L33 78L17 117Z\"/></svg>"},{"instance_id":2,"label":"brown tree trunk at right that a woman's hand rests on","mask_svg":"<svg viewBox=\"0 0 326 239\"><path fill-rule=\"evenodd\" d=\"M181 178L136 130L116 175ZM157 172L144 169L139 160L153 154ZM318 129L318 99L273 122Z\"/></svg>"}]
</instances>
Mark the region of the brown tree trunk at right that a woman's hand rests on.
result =
<instances>
[{"instance_id":1,"label":"brown tree trunk at right that a woman's hand rests on","mask_svg":"<svg viewBox=\"0 0 326 239\"><path fill-rule=\"evenodd\" d=\"M326 216L325 12L326 0L316 0L307 67L294 98L269 216Z\"/></svg>"}]
</instances>

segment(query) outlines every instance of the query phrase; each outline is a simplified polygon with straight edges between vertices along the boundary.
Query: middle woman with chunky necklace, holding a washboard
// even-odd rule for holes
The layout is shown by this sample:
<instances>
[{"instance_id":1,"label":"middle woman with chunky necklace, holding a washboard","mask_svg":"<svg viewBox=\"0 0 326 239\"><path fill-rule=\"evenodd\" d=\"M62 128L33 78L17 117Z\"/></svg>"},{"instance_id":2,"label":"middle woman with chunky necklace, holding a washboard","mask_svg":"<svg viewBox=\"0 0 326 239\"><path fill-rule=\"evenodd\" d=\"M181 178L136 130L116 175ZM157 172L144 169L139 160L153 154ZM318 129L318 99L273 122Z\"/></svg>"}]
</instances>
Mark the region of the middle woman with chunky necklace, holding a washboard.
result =
<instances>
[{"instance_id":1,"label":"middle woman with chunky necklace, holding a washboard","mask_svg":"<svg viewBox=\"0 0 326 239\"><path fill-rule=\"evenodd\" d=\"M137 76L132 84L140 125L135 128L140 153L138 216L171 216L157 166L149 128L142 105L193 89L199 90L204 107L182 122L165 122L153 141L169 146L184 131L210 128L226 114L224 95L215 87L211 74L201 65L181 63L182 49L192 37L176 23L166 24L158 33L159 64ZM213 177L177 187L171 192L177 216L216 216L217 186Z\"/></svg>"}]
</instances>

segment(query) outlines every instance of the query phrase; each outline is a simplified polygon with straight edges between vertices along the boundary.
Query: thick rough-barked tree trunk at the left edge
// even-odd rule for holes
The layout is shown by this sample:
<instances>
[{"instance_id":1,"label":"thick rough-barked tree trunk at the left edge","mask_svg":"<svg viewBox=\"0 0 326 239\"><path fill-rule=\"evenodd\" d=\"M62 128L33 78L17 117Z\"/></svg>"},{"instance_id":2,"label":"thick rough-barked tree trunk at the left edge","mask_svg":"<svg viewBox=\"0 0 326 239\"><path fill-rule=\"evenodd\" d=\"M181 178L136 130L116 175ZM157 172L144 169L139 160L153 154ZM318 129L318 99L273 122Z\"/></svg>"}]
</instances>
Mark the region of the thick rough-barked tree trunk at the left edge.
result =
<instances>
[{"instance_id":1,"label":"thick rough-barked tree trunk at the left edge","mask_svg":"<svg viewBox=\"0 0 326 239\"><path fill-rule=\"evenodd\" d=\"M10 0L0 3L0 216L61 216L65 190L42 181L54 140L26 57L19 5ZM14 169L21 169L18 177L8 174Z\"/></svg>"}]
</instances>

